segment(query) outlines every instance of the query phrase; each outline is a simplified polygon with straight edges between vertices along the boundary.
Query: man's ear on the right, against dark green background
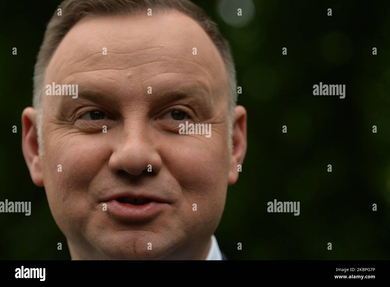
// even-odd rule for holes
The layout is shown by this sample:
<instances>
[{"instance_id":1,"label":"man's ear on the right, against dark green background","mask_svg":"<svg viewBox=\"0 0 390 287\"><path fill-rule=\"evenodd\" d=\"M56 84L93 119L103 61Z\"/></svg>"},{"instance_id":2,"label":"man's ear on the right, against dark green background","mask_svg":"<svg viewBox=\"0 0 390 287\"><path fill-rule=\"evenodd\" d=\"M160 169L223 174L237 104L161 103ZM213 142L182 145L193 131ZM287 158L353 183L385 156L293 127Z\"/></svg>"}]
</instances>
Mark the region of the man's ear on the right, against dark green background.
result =
<instances>
[{"instance_id":1,"label":"man's ear on the right, against dark green background","mask_svg":"<svg viewBox=\"0 0 390 287\"><path fill-rule=\"evenodd\" d=\"M246 110L243 106L236 106L233 113L232 130L233 150L230 156L228 184L235 184L238 179L238 165L244 161L246 153Z\"/></svg>"}]
</instances>

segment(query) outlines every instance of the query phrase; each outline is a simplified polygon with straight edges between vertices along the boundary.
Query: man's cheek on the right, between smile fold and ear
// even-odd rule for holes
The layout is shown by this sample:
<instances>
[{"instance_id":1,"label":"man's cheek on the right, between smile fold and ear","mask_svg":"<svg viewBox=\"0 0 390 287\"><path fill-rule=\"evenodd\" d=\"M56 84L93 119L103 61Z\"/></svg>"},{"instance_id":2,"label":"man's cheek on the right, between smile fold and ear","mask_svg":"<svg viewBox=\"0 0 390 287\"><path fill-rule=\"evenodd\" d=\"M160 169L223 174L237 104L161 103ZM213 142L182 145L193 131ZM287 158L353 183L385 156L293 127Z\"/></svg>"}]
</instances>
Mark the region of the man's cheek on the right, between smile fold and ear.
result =
<instances>
[{"instance_id":1,"label":"man's cheek on the right, between smile fold and ear","mask_svg":"<svg viewBox=\"0 0 390 287\"><path fill-rule=\"evenodd\" d=\"M214 132L214 131L213 131ZM168 141L174 149L165 152L164 162L183 193L181 209L190 225L218 225L225 207L229 174L229 149L225 137L200 139L182 135ZM167 151L167 150L166 150ZM197 212L193 211L193 204Z\"/></svg>"}]
</instances>

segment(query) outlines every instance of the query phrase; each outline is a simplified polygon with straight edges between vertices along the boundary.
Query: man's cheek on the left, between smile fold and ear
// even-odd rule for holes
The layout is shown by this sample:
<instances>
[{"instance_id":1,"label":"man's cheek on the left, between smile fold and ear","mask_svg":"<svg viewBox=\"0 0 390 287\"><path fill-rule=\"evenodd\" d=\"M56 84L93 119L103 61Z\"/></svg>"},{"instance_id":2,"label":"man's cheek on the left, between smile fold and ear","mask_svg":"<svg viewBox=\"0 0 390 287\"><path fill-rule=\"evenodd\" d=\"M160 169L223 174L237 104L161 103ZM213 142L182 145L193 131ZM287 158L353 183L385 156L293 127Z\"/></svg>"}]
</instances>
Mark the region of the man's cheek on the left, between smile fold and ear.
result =
<instances>
[{"instance_id":1,"label":"man's cheek on the left, between smile fold and ear","mask_svg":"<svg viewBox=\"0 0 390 287\"><path fill-rule=\"evenodd\" d=\"M74 230L74 225L85 224L87 210L94 205L88 188L99 176L108 149L102 141L82 135L60 139L45 141L41 165L51 213L59 228L68 234L64 230ZM58 171L59 164L61 172Z\"/></svg>"}]
</instances>

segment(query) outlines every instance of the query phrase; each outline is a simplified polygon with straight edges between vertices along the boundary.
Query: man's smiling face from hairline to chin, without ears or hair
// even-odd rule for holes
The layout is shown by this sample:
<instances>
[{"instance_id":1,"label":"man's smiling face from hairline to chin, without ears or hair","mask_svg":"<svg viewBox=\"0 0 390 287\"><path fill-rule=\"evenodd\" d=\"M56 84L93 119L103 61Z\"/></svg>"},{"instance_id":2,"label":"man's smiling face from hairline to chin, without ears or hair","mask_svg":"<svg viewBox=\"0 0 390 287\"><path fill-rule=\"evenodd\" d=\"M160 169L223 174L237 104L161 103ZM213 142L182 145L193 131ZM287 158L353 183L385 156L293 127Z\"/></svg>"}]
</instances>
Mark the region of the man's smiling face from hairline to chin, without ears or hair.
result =
<instances>
[{"instance_id":1,"label":"man's smiling face from hairline to chin, without ears or hair","mask_svg":"<svg viewBox=\"0 0 390 287\"><path fill-rule=\"evenodd\" d=\"M204 259L232 166L227 74L206 32L174 11L86 17L52 82L78 84L78 98L42 95L42 180L72 257ZM179 134L186 121L211 137Z\"/></svg>"}]
</instances>

